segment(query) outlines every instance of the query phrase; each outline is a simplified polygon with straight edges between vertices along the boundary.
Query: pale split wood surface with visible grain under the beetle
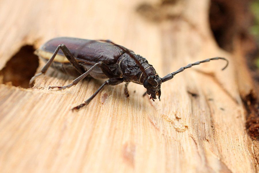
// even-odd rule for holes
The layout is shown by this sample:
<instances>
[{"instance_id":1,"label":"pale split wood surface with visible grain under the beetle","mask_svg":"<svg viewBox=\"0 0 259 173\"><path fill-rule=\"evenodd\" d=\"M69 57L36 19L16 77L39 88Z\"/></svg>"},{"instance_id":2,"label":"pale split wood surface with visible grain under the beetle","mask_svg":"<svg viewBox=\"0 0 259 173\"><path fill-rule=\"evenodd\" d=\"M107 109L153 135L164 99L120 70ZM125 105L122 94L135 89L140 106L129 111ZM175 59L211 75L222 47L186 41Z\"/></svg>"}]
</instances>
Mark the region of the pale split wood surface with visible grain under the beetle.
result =
<instances>
[{"instance_id":1,"label":"pale split wood surface with visible grain under the beetle","mask_svg":"<svg viewBox=\"0 0 259 173\"><path fill-rule=\"evenodd\" d=\"M70 109L102 81L50 91L73 77L49 70L33 89L0 84L0 172L258 172L258 142L247 135L242 102L252 80L241 52L218 48L209 0L157 6L158 22L136 12L140 0L0 3L0 69L20 47L56 36L113 40L146 57L160 76L209 57L230 61L225 71L224 61L213 61L178 74L162 84L161 102L143 98L144 87L132 83L125 98L120 84L78 112Z\"/></svg>"}]
</instances>

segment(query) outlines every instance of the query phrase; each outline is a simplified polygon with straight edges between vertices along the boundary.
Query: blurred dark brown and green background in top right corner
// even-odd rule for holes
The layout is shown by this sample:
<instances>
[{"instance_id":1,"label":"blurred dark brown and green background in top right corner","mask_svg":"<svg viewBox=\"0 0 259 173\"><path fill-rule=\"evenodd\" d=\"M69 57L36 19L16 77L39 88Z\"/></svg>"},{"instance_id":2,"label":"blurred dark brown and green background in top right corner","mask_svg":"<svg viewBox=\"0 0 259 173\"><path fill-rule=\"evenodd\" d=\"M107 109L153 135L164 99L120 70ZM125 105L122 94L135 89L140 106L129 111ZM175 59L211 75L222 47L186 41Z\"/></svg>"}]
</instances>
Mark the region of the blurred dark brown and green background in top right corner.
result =
<instances>
[{"instance_id":1,"label":"blurred dark brown and green background in top right corner","mask_svg":"<svg viewBox=\"0 0 259 173\"><path fill-rule=\"evenodd\" d=\"M212 0L210 24L219 46L226 51L233 52L234 38L241 37L247 65L258 86L259 1Z\"/></svg>"}]
</instances>

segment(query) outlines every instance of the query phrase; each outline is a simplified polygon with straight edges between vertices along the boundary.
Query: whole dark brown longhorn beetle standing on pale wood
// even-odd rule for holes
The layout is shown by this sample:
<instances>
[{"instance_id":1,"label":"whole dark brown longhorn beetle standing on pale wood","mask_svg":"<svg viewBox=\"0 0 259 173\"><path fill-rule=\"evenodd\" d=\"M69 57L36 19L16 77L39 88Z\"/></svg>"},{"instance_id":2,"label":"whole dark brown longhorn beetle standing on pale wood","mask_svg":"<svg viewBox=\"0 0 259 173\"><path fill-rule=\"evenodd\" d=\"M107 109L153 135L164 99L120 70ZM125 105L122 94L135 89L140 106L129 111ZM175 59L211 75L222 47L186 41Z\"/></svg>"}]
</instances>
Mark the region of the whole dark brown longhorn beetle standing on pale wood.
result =
<instances>
[{"instance_id":1,"label":"whole dark brown longhorn beetle standing on pale wood","mask_svg":"<svg viewBox=\"0 0 259 173\"><path fill-rule=\"evenodd\" d=\"M33 83L37 76L44 74L50 66L65 74L79 77L73 80L71 84L66 86L49 86L49 89L58 88L62 90L70 88L85 77L107 79L91 97L72 110L78 110L88 105L104 86L118 85L122 82L126 82L124 89L125 97L129 96L127 90L128 83L134 82L142 84L146 88L145 94L150 95L150 99L155 101L158 96L160 101L161 84L172 79L176 74L184 71L184 69L218 59L223 59L227 62L222 70L228 66L227 59L215 57L188 64L160 78L155 68L144 57L135 54L124 46L115 44L110 40L85 40L72 37L57 37L49 40L36 50L35 54L47 63L40 73L35 74L31 78L30 84Z\"/></svg>"}]
</instances>

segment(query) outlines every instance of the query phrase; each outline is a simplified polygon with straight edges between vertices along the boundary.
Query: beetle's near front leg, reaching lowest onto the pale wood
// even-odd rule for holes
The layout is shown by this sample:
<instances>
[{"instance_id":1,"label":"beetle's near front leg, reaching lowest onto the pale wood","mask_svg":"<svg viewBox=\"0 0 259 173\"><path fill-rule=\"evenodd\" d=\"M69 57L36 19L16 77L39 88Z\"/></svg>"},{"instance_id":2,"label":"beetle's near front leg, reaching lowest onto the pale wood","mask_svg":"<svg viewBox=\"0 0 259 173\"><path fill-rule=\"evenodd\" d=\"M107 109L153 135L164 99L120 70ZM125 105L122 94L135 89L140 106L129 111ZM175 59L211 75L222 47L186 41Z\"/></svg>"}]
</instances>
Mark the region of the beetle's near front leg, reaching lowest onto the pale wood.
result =
<instances>
[{"instance_id":1,"label":"beetle's near front leg, reaching lowest onto the pale wood","mask_svg":"<svg viewBox=\"0 0 259 173\"><path fill-rule=\"evenodd\" d=\"M105 86L105 85L118 85L120 83L123 82L123 78L111 78L111 79L108 79L106 80L98 89L97 91L91 96L89 97L87 100L85 100L84 103L72 108L72 110L79 110L80 108L82 108L83 106L87 106L90 101L102 90L102 88Z\"/></svg>"}]
</instances>

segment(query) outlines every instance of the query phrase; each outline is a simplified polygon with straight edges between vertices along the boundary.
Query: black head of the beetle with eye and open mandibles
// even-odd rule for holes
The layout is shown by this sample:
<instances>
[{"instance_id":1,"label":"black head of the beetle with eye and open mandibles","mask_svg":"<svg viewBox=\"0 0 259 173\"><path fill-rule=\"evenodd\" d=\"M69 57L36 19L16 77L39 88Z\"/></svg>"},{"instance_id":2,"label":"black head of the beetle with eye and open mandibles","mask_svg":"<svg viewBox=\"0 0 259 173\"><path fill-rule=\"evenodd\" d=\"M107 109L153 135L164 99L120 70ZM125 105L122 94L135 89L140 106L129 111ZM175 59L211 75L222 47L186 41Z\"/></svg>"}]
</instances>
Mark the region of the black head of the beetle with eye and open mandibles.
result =
<instances>
[{"instance_id":1,"label":"black head of the beetle with eye and open mandibles","mask_svg":"<svg viewBox=\"0 0 259 173\"><path fill-rule=\"evenodd\" d=\"M148 95L150 95L150 99L152 99L153 101L155 101L154 99L157 99L157 96L158 96L159 101L160 101L160 96L161 96L160 86L161 86L161 83L162 83L162 80L158 76L158 74L148 76L144 80L143 86L146 88L146 93Z\"/></svg>"}]
</instances>

